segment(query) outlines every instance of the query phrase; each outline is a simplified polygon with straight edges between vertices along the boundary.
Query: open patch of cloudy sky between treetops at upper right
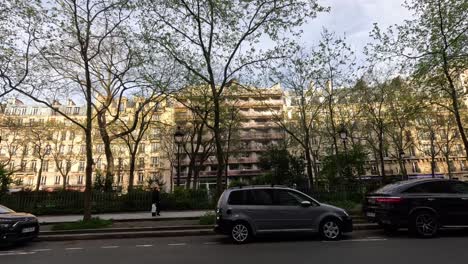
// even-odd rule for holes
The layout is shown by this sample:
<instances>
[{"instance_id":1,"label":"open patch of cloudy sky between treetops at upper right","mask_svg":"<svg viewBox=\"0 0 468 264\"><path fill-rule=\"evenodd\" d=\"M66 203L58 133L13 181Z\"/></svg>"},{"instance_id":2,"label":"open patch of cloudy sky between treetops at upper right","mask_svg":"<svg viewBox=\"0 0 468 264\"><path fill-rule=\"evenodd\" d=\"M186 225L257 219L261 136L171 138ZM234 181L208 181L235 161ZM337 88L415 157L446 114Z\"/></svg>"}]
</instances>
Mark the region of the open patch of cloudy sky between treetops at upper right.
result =
<instances>
[{"instance_id":1,"label":"open patch of cloudy sky between treetops at upper right","mask_svg":"<svg viewBox=\"0 0 468 264\"><path fill-rule=\"evenodd\" d=\"M381 28L399 24L410 18L410 13L402 7L404 0L319 0L319 3L330 6L329 13L322 13L311 20L304 28L302 42L314 45L320 39L323 27L338 35L346 34L347 42L358 57L369 42L369 32L373 23Z\"/></svg>"}]
</instances>

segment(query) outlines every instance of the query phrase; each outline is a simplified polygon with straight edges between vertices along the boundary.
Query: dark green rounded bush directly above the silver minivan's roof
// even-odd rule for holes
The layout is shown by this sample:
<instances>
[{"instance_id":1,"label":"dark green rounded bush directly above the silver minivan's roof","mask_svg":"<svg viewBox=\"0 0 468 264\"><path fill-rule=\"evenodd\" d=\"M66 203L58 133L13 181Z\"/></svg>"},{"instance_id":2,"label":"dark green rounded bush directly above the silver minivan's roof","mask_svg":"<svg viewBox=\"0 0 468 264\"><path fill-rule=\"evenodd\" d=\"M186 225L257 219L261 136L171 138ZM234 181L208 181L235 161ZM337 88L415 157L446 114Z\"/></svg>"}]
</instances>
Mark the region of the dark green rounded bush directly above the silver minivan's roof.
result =
<instances>
[{"instance_id":1,"label":"dark green rounded bush directly above the silver minivan's roof","mask_svg":"<svg viewBox=\"0 0 468 264\"><path fill-rule=\"evenodd\" d=\"M270 172L257 177L253 184L296 184L304 186L306 177L304 175L304 160L291 155L283 146L272 146L259 158L259 165Z\"/></svg>"}]
</instances>

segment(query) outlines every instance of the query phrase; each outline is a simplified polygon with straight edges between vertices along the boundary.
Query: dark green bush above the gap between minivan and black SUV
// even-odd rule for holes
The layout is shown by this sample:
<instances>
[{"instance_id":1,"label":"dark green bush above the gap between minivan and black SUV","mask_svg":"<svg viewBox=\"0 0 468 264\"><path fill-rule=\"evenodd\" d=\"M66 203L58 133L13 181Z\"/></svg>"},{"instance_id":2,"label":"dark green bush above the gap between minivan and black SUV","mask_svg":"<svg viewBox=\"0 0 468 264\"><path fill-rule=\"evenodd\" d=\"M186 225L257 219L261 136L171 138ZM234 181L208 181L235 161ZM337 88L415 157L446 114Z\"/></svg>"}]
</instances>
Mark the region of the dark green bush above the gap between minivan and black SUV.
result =
<instances>
[{"instance_id":1,"label":"dark green bush above the gap between minivan and black SUV","mask_svg":"<svg viewBox=\"0 0 468 264\"><path fill-rule=\"evenodd\" d=\"M360 175L364 175L366 160L367 153L360 146L340 152L338 155L327 156L322 163L320 180L325 181L329 186L349 184L358 179Z\"/></svg>"}]
</instances>

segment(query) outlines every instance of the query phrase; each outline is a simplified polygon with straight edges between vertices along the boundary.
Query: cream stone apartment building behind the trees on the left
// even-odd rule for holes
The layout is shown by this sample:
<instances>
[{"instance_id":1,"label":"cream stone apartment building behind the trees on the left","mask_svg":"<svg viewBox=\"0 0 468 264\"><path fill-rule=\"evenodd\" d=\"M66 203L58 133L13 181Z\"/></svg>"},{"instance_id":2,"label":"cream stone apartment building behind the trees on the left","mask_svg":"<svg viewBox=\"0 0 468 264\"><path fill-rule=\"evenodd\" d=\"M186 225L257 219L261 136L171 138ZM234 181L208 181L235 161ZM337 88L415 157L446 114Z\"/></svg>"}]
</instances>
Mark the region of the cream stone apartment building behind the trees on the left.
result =
<instances>
[{"instance_id":1,"label":"cream stone apartment building behind the trees on the left","mask_svg":"<svg viewBox=\"0 0 468 264\"><path fill-rule=\"evenodd\" d=\"M122 122L132 121L133 113L138 107L138 98L124 98ZM54 108L70 115L74 120L85 120L85 108L77 106L72 100L66 104L54 102ZM116 105L112 105L110 112ZM85 145L83 133L76 125L48 107L25 104L18 99L10 99L0 114L0 162L14 171L18 188L34 189L38 182L40 189L55 190L63 188L84 190L85 186ZM162 180L170 188L171 167L164 151L165 142L162 130L171 126L172 111L163 102L151 114L151 125L147 128L136 153L135 187L145 187L150 179ZM154 121L154 122L153 122ZM106 170L104 145L99 136L97 122L93 121L94 174L103 174ZM137 136L138 129L133 134ZM129 137L127 137L129 138ZM168 140L172 140L169 138ZM131 140L117 139L112 142L114 156L114 188L126 190L129 184ZM41 171L41 173L39 173ZM65 184L64 184L65 181Z\"/></svg>"}]
</instances>

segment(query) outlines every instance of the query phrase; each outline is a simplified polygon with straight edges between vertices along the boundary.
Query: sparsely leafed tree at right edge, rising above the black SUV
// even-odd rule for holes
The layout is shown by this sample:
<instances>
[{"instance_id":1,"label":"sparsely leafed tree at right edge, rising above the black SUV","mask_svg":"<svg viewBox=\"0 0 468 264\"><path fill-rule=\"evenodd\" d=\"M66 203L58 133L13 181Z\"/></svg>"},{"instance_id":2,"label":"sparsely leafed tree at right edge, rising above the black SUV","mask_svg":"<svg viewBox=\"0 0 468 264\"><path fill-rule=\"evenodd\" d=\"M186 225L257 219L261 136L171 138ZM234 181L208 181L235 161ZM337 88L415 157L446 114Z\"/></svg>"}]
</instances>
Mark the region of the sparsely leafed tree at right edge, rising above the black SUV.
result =
<instances>
[{"instance_id":1,"label":"sparsely leafed tree at right edge, rising above the black SUV","mask_svg":"<svg viewBox=\"0 0 468 264\"><path fill-rule=\"evenodd\" d=\"M397 59L407 66L421 92L449 110L457 124L468 156L468 138L461 108L465 91L457 79L468 68L468 2L459 0L410 0L406 8L415 17L386 33L375 25L370 45L382 61Z\"/></svg>"}]
</instances>

